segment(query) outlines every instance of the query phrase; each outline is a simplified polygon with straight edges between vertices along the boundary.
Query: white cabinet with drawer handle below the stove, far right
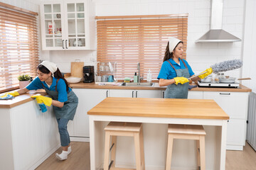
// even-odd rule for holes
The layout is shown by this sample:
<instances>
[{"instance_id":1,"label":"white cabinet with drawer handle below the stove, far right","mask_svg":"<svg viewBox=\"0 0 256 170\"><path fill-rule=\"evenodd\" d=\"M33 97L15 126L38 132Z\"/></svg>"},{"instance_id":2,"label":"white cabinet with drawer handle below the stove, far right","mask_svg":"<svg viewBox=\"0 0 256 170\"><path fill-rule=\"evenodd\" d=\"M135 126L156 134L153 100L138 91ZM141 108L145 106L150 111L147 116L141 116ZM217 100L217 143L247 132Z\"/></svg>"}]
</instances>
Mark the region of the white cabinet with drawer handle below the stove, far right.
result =
<instances>
[{"instance_id":1,"label":"white cabinet with drawer handle below the stove, far right","mask_svg":"<svg viewBox=\"0 0 256 170\"><path fill-rule=\"evenodd\" d=\"M248 93L203 91L203 99L213 99L230 116L227 149L242 150L245 145Z\"/></svg>"}]
</instances>

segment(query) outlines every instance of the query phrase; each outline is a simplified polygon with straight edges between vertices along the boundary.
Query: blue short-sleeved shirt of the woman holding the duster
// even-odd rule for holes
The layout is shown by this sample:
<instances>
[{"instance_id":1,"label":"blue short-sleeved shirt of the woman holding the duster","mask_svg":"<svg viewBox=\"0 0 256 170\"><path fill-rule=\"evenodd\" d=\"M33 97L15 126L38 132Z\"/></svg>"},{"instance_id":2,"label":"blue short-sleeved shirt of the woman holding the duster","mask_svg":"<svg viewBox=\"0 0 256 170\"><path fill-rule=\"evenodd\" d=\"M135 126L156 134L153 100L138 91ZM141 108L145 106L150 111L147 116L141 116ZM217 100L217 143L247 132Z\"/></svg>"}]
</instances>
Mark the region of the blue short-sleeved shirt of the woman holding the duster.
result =
<instances>
[{"instance_id":1,"label":"blue short-sleeved shirt of the woman holding the duster","mask_svg":"<svg viewBox=\"0 0 256 170\"><path fill-rule=\"evenodd\" d=\"M190 77L193 76L193 71L190 67L190 65L188 64L188 62L186 60L183 60L183 62L185 62L185 65L183 64L183 62L181 61L181 59L178 59L180 61L180 65L177 64L176 62L174 62L173 59L169 59L169 62L171 62L171 64L173 64L175 69L186 69L186 67L188 67L188 72ZM177 77L177 74L174 70L173 67L171 67L171 64L168 61L163 62L160 72L159 72L159 76L157 77L157 79L174 79L174 77Z\"/></svg>"}]
</instances>

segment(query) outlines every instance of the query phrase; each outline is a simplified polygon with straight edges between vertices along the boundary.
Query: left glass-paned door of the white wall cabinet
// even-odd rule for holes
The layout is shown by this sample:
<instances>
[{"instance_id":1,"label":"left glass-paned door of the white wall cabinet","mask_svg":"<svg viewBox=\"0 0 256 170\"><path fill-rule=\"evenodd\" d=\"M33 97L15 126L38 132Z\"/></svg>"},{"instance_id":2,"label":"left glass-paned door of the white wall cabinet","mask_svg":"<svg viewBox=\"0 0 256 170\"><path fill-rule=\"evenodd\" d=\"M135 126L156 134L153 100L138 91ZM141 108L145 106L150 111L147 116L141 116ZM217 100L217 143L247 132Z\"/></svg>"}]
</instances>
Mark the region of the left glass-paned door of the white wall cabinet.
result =
<instances>
[{"instance_id":1,"label":"left glass-paned door of the white wall cabinet","mask_svg":"<svg viewBox=\"0 0 256 170\"><path fill-rule=\"evenodd\" d=\"M44 4L46 47L63 48L62 13L60 4Z\"/></svg>"}]
</instances>

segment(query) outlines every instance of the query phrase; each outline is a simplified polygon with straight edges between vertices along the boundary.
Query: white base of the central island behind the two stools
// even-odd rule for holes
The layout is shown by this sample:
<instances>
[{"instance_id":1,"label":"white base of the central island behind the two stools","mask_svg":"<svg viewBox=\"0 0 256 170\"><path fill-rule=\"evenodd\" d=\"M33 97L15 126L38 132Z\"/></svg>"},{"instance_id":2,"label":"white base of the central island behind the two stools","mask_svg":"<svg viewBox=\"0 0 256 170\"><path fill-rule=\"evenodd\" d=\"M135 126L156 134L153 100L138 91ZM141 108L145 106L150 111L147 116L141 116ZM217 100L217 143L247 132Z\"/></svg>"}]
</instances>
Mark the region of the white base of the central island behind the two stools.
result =
<instances>
[{"instance_id":1,"label":"white base of the central island behind the two stools","mask_svg":"<svg viewBox=\"0 0 256 170\"><path fill-rule=\"evenodd\" d=\"M206 169L225 169L227 120L90 115L91 169L98 170L103 167L104 128L109 121L143 123L144 156L147 170L165 169L167 125L169 123L203 125L206 130ZM174 140L172 155L172 169L196 170L196 142L194 140ZM136 168L132 137L117 137L116 166Z\"/></svg>"}]
</instances>

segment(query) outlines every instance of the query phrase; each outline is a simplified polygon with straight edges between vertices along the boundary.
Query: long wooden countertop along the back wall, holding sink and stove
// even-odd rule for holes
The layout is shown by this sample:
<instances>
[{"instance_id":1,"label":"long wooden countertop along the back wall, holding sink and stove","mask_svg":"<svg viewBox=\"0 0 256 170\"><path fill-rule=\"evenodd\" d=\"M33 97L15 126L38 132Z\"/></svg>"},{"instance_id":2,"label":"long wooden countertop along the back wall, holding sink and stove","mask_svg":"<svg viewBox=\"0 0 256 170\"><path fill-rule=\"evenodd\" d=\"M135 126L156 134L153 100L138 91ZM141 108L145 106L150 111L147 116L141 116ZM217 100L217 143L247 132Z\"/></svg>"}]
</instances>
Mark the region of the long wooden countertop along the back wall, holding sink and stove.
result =
<instances>
[{"instance_id":1,"label":"long wooden countertop along the back wall, holding sink and stove","mask_svg":"<svg viewBox=\"0 0 256 170\"><path fill-rule=\"evenodd\" d=\"M120 83L121 84L121 83ZM196 85L196 84L191 84ZM71 88L74 89L137 89L137 90L165 90L166 87L160 87L158 83L154 83L154 86L113 86L111 84L107 84L105 86L100 86L95 83L78 83L78 84L70 84ZM239 88L209 88L209 87L196 87L191 89L190 91L233 91L233 92L251 92L252 89L247 88L246 86L242 86L240 84Z\"/></svg>"}]
</instances>

